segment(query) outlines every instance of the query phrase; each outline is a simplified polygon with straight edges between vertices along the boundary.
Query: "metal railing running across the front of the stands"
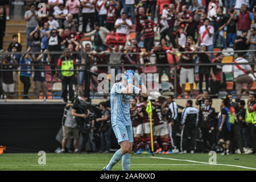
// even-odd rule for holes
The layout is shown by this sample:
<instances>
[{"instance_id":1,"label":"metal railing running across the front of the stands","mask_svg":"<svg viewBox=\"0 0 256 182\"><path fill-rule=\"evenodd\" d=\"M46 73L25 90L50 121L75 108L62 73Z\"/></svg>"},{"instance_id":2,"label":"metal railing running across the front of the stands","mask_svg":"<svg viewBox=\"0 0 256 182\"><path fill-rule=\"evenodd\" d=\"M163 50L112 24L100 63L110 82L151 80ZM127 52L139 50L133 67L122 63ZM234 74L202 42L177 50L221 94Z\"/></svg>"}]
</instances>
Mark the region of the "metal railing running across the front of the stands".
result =
<instances>
[{"instance_id":1,"label":"metal railing running across the front of the stands","mask_svg":"<svg viewBox=\"0 0 256 182\"><path fill-rule=\"evenodd\" d=\"M207 51L207 52L204 52L204 53L218 53L218 52L222 52L222 53L230 53L230 56L233 55L232 53L239 53L239 52L256 52L256 50L246 50L246 51ZM23 55L24 53L26 52L2 52L0 57L3 58L7 55L11 55L11 54L15 54L15 55ZM76 55L81 55L81 57L83 57L85 59L85 62L86 64L77 64L77 67L80 67L80 66L84 66L85 69L73 69L72 71L75 71L75 72L86 72L88 73L89 77L91 75L94 75L94 76L97 76L97 73L93 73L92 71L90 71L89 68L91 67L108 67L108 68L111 68L111 67L134 67L135 69L137 69L138 67L147 67L147 66L155 66L155 67L172 67L173 71L174 71L174 97L176 98L177 97L177 67L180 67L180 66L185 66L185 65L191 65L191 66L194 66L194 67L200 67L200 66L213 66L213 65L236 65L236 64L239 64L239 65L242 65L242 63L220 63L220 64L217 64L217 63L210 63L210 64L206 64L206 63L192 63L192 64L181 64L178 62L178 60L176 60L175 56L173 56L173 60L174 60L174 63L172 64L89 64L88 63L88 57L85 56L86 54L89 54L87 52L71 52L73 54L76 54ZM115 52L113 52L115 53ZM185 53L185 52L180 52L179 53ZM195 55L198 55L199 53L202 53L202 52L191 52L194 56ZM30 55L39 55L39 54L44 54L44 55L51 55L51 54L58 54L58 55L62 55L63 52L30 52L29 53ZM99 54L99 53L97 53ZM111 53L105 53L106 55L110 55ZM123 53L123 52L117 52L117 54L126 54L126 53ZM138 52L129 52L129 54L134 54L134 55L138 55L138 54L141 54L141 53L138 53ZM172 55L175 55L176 53L172 53ZM144 56L141 56L141 57L144 57ZM146 56L147 57L147 56ZM154 57L154 55L150 55L150 57ZM247 65L255 65L255 63L245 63ZM26 64L15 64L16 67L19 67L21 65L26 65ZM42 66L42 65L46 65L46 66L56 66L56 64L51 64L51 63L48 63L48 64L30 64L28 66ZM28 71L28 70L22 70L22 71ZM31 72L42 72L42 71L47 71L47 72L52 72L52 71L55 71L55 72L58 72L58 71L61 71L60 69L30 69L29 71ZM71 70L69 70L71 71ZM1 69L0 69L0 72L1 72L1 85L2 85L2 78L3 78L3 72L19 72L19 70L16 70L16 69L3 69L3 61L1 61ZM86 78L85 78L86 79ZM88 78L87 78L88 79ZM88 80L87 80L88 81ZM51 85L53 84L52 80L51 80ZM21 94L21 89L20 89L20 80L18 78L18 85L19 85L19 92L18 94L12 94L12 95L7 95L7 96L18 96L19 98L21 98L20 96L38 96L36 94L27 94L27 95L23 95ZM3 87L1 86L1 89L3 89ZM86 90L85 92L88 93L88 96L89 96L89 86L86 86ZM2 90L2 93L3 93L3 90ZM53 96L53 91L51 90L51 94Z\"/></svg>"}]
</instances>

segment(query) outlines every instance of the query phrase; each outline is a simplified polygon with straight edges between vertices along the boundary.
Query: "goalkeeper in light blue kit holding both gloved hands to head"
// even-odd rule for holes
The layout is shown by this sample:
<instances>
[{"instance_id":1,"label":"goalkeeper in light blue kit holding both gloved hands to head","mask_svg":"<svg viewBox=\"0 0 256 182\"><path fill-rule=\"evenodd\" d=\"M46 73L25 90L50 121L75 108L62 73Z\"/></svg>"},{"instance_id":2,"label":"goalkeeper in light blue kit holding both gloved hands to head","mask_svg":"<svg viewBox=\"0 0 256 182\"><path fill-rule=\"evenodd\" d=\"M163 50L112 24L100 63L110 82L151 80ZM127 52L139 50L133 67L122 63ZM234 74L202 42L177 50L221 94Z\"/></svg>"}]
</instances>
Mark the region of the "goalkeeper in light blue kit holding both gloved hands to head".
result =
<instances>
[{"instance_id":1,"label":"goalkeeper in light blue kit holding both gloved hands to head","mask_svg":"<svg viewBox=\"0 0 256 182\"><path fill-rule=\"evenodd\" d=\"M134 80L139 82L139 88L133 85ZM110 92L111 122L115 137L117 137L120 149L115 152L109 164L103 171L111 171L113 166L122 158L122 169L128 171L130 168L130 154L133 150L133 127L131 126L130 101L131 95L139 93L143 97L148 96L146 86L142 84L141 78L129 69L125 72L122 82L117 82Z\"/></svg>"}]
</instances>

